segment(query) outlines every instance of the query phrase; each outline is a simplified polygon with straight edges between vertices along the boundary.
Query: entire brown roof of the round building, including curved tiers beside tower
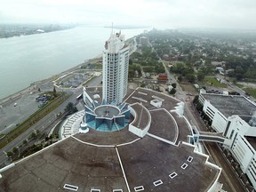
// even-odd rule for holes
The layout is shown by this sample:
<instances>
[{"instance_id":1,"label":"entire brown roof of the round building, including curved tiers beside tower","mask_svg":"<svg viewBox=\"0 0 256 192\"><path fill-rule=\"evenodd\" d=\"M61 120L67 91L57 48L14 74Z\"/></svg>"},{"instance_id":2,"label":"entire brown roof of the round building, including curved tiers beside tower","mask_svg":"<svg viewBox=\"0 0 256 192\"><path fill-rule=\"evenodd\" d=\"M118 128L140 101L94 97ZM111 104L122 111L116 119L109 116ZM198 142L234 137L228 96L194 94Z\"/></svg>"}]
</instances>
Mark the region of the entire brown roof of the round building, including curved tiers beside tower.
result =
<instances>
[{"instance_id":1,"label":"entire brown roof of the round building, including curved tiers beside tower","mask_svg":"<svg viewBox=\"0 0 256 192\"><path fill-rule=\"evenodd\" d=\"M182 142L188 142L191 129L174 111L180 100L145 89L129 92L126 102L142 103L142 116L146 111L151 116L148 135L140 138L128 128L78 133L1 172L0 191L68 191L65 184L85 192L208 191L220 169ZM150 100L162 100L162 107L152 106ZM140 116L141 105L135 106Z\"/></svg>"}]
</instances>

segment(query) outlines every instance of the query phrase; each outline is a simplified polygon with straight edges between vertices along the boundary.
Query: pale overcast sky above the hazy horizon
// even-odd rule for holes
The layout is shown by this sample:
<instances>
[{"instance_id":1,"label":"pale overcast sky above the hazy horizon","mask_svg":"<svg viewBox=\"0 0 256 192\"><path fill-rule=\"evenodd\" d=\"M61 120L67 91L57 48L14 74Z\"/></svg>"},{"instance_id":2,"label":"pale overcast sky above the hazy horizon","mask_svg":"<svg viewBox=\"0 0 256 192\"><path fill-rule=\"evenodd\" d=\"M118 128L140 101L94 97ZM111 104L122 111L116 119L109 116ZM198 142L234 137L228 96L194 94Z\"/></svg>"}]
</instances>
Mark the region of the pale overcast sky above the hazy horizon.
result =
<instances>
[{"instance_id":1,"label":"pale overcast sky above the hazy horizon","mask_svg":"<svg viewBox=\"0 0 256 192\"><path fill-rule=\"evenodd\" d=\"M0 23L256 29L256 0L0 0Z\"/></svg>"}]
</instances>

